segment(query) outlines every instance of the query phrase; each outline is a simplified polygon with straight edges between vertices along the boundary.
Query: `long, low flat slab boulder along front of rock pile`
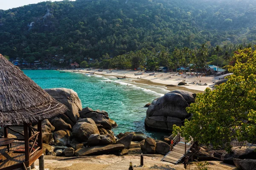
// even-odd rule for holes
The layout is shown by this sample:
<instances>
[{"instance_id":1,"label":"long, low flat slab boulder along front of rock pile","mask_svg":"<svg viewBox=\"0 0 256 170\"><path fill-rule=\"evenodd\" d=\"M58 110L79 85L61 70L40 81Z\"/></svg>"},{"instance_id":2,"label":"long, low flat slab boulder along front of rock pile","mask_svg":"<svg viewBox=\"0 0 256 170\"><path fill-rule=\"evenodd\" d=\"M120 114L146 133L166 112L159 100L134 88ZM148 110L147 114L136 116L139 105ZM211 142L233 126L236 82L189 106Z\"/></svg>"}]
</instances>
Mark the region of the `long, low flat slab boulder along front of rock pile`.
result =
<instances>
[{"instance_id":1,"label":"long, low flat slab boulder along front of rock pile","mask_svg":"<svg viewBox=\"0 0 256 170\"><path fill-rule=\"evenodd\" d=\"M123 150L123 144L109 144L106 146L83 147L75 151L76 156L93 156L108 154L115 151Z\"/></svg>"}]
</instances>

